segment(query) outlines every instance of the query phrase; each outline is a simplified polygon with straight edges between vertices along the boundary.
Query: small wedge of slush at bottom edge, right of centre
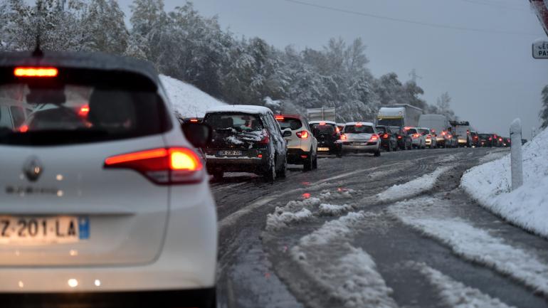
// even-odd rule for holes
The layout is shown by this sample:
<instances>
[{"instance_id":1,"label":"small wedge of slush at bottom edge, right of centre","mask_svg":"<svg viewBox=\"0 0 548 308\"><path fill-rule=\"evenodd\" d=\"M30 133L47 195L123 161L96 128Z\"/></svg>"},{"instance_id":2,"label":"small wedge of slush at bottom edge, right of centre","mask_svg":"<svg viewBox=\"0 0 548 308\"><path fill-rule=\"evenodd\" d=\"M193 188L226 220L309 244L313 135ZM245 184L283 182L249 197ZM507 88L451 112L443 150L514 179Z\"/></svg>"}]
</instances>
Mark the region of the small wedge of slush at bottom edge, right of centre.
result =
<instances>
[{"instance_id":1,"label":"small wedge of slush at bottom edge, right of centre","mask_svg":"<svg viewBox=\"0 0 548 308\"><path fill-rule=\"evenodd\" d=\"M441 299L448 307L454 308L511 308L500 299L492 298L488 294L473 287L463 285L462 282L453 280L443 275L438 270L421 263L414 263L415 267L428 281L440 292Z\"/></svg>"}]
</instances>

